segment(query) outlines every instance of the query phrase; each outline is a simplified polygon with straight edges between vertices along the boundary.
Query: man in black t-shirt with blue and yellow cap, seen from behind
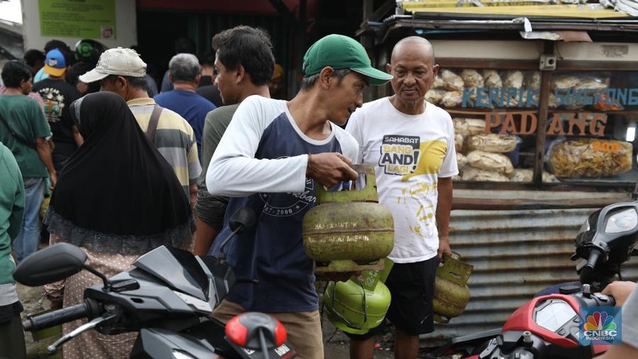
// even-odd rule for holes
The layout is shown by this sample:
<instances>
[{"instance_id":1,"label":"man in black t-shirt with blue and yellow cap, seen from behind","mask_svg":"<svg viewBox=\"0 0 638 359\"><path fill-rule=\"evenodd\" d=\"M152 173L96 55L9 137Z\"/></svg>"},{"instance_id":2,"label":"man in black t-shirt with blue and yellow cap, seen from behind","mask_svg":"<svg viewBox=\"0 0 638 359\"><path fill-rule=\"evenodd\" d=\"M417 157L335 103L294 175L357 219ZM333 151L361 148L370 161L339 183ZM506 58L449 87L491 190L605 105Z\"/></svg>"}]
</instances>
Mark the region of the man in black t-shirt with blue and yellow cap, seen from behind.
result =
<instances>
[{"instance_id":1,"label":"man in black t-shirt with blue and yellow cap, seen from behind","mask_svg":"<svg viewBox=\"0 0 638 359\"><path fill-rule=\"evenodd\" d=\"M80 98L80 93L65 81L67 63L60 50L54 49L47 53L44 71L49 77L33 85L33 91L39 93L45 103L45 117L55 143L53 165L55 171L59 172L69 156L83 142L69 113L71 103Z\"/></svg>"}]
</instances>

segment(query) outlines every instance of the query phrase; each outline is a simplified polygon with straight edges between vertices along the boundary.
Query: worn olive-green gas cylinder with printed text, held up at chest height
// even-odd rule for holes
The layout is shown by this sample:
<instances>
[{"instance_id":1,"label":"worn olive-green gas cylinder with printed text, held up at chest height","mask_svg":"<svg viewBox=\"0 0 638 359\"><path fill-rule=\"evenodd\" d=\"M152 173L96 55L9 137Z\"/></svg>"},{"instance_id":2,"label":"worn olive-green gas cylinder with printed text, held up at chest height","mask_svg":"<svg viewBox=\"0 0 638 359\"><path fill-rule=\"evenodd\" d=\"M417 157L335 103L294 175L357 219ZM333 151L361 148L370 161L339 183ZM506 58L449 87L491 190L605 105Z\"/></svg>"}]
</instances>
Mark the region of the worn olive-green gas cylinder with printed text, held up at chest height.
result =
<instances>
[{"instance_id":1,"label":"worn olive-green gas cylinder with printed text, held up at chest height","mask_svg":"<svg viewBox=\"0 0 638 359\"><path fill-rule=\"evenodd\" d=\"M362 189L328 192L318 186L318 206L303 217L303 248L318 273L382 269L379 260L394 246L392 213L379 204L374 167L352 169L365 176Z\"/></svg>"}]
</instances>

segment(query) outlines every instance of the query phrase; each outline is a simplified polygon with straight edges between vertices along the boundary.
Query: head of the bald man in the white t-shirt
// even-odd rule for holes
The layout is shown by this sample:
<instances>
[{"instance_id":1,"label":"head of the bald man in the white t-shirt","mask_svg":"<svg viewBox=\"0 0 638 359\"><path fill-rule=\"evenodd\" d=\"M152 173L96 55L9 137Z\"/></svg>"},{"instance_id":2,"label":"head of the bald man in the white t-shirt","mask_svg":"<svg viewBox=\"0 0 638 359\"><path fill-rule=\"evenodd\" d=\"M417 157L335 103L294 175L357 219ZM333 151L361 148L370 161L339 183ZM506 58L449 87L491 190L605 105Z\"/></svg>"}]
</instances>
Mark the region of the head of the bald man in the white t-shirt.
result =
<instances>
[{"instance_id":1,"label":"head of the bald man in the white t-shirt","mask_svg":"<svg viewBox=\"0 0 638 359\"><path fill-rule=\"evenodd\" d=\"M410 42L398 46L388 64L388 72L394 76L390 81L392 89L401 101L420 101L432 86L439 65L434 64L429 47Z\"/></svg>"}]
</instances>

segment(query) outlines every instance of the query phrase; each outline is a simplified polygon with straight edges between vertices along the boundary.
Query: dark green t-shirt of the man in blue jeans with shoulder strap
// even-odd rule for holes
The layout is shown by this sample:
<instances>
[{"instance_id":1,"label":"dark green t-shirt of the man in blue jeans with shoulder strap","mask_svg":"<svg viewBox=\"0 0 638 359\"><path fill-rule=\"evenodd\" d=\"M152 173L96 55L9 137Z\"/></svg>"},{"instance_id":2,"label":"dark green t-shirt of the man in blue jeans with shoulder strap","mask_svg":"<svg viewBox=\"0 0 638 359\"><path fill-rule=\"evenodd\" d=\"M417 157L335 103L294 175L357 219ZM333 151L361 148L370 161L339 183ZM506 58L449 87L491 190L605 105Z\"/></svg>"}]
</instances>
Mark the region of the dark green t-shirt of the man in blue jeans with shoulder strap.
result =
<instances>
[{"instance_id":1,"label":"dark green t-shirt of the man in blue jeans with shoulder strap","mask_svg":"<svg viewBox=\"0 0 638 359\"><path fill-rule=\"evenodd\" d=\"M18 137L33 144L33 148L23 144L11 135L4 122L0 121L0 142L11 149L16 157L23 178L46 178L49 171L35 150L35 139L48 138L51 129L42 108L33 98L24 95L1 95L0 115L6 120Z\"/></svg>"}]
</instances>

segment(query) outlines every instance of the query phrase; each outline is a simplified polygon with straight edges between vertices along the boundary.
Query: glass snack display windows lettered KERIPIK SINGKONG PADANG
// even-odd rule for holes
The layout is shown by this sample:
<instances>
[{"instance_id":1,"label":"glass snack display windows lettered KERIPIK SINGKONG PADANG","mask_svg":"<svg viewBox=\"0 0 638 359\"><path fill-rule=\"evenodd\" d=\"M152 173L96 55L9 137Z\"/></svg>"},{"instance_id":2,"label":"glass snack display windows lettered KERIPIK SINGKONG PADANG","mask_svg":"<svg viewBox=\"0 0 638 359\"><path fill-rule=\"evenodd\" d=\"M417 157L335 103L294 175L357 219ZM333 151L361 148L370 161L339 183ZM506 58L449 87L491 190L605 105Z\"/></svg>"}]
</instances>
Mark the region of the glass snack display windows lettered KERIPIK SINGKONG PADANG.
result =
<instances>
[{"instance_id":1,"label":"glass snack display windows lettered KERIPIK SINGKONG PADANG","mask_svg":"<svg viewBox=\"0 0 638 359\"><path fill-rule=\"evenodd\" d=\"M638 74L555 72L544 85L532 70L437 75L425 99L452 115L456 180L531 182L540 168L544 183L635 181Z\"/></svg>"}]
</instances>

